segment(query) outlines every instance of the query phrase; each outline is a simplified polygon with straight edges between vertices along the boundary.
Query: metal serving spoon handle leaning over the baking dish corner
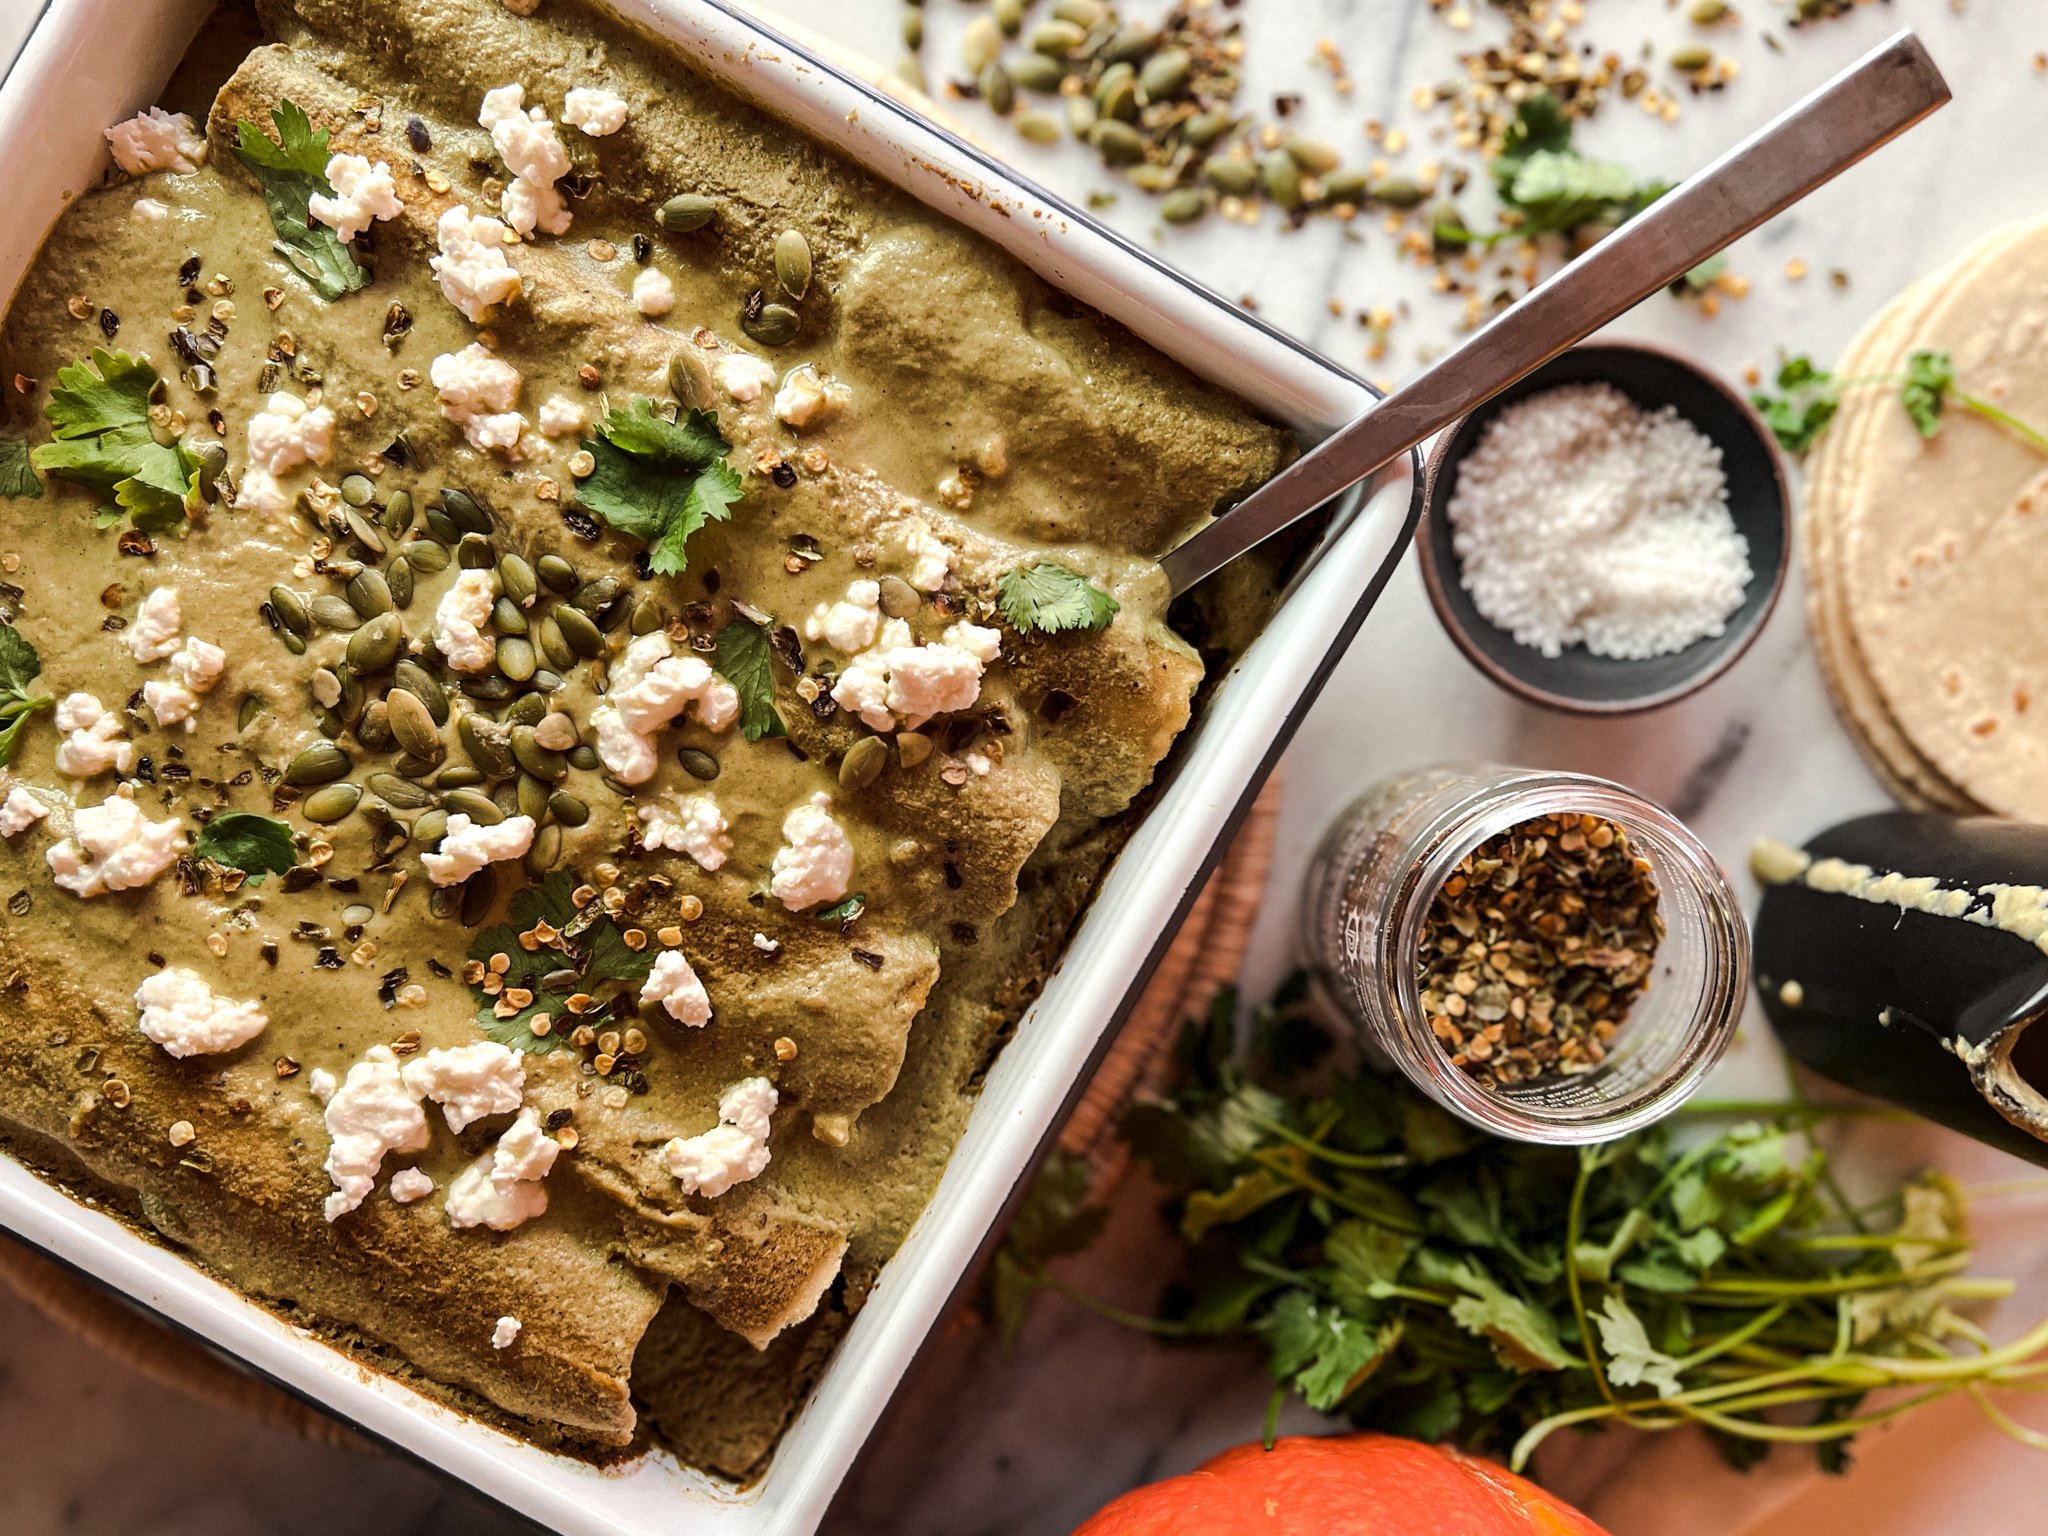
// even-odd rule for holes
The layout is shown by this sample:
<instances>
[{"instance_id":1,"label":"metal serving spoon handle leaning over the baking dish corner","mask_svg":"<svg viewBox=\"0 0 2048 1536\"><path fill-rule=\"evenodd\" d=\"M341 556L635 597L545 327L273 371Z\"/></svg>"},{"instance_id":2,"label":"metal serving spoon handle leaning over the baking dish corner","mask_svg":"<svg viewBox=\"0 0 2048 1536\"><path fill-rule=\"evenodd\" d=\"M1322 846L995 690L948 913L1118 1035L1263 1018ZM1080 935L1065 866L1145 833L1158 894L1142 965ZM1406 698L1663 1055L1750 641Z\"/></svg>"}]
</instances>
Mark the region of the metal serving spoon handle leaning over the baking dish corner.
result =
<instances>
[{"instance_id":1,"label":"metal serving spoon handle leaning over the baking dish corner","mask_svg":"<svg viewBox=\"0 0 2048 1536\"><path fill-rule=\"evenodd\" d=\"M1948 100L1913 33L1866 53L1167 553L1186 592L1675 283Z\"/></svg>"}]
</instances>

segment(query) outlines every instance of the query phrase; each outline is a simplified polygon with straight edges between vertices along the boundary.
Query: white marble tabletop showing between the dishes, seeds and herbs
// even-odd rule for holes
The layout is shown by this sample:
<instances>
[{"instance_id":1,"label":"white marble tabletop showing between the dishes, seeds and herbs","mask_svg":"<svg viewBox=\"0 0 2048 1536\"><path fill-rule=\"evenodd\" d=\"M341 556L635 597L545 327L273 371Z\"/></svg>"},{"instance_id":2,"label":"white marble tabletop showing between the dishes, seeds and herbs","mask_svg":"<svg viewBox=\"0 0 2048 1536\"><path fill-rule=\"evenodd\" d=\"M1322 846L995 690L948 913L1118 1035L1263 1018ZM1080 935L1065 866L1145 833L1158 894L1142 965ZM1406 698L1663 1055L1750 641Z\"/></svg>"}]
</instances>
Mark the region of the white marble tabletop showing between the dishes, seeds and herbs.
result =
<instances>
[{"instance_id":1,"label":"white marble tabletop showing between the dishes, seeds and herbs","mask_svg":"<svg viewBox=\"0 0 2048 1536\"><path fill-rule=\"evenodd\" d=\"M897 0L758 4L870 53L897 51ZM1139 0L1130 8L1149 6ZM1470 8L1483 31L1487 6ZM1782 6L1747 0L1743 8L1761 16ZM0 0L0 10L10 4ZM1595 25L1587 35L1624 53L1655 39L1661 55L1688 35L1683 6L1665 0L1599 0L1589 10ZM948 39L969 14L956 0L930 0L928 57L948 57ZM1417 139L1411 162L1432 154L1430 119L1413 119L1407 92L1450 76L1452 53L1470 35L1454 35L1423 0L1245 0L1239 14L1251 41L1249 100L1307 78L1305 106L1292 119L1307 131L1352 145L1360 125L1380 117L1409 125ZM1706 319L1659 297L1616 326L1618 334L1667 342L1729 375L1769 365L1780 346L1831 356L1909 279L1997 223L2040 211L2048 172L2036 143L2048 117L2048 78L2030 59L2048 47L2042 0L1974 0L1966 10L1952 0L1872 4L1798 35L1780 31L1782 53L1765 51L1755 29L1722 33L1722 47L1743 39L1735 51L1745 68L1733 90L1688 100L1669 127L1616 102L1581 141L1675 178L1901 23L1923 31L1956 104L1737 248L1735 270L1753 279L1747 301ZM1352 96L1339 100L1303 70L1319 37L1343 49ZM971 121L987 127L987 119ZM1036 176L1069 195L1104 184L1079 152L1018 150ZM1370 221L1348 233L1313 225L1284 238L1270 225L1214 223L1165 233L1133 193L1106 217L1231 297L1251 295L1264 315L1372 377L1399 379L1413 365L1413 346L1442 344L1456 324L1456 307L1432 297L1425 274L1401 264L1393 240ZM1784 276L1794 256L1812 268L1804 283ZM1825 281L1833 266L1849 272L1847 289ZM1329 315L1331 299L1346 307L1341 319ZM1366 362L1352 319L1366 303L1407 309L1395 354L1376 365ZM1647 719L1587 723L1526 709L1475 674L1438 631L1409 561L1288 754L1280 872L1249 987L1268 985L1292 961L1292 883L1327 815L1384 770L1473 756L1620 778L1679 811L1737 870L1757 834L1802 838L1884 799L1829 711L1806 647L1798 578L1761 643L1704 694ZM1724 1073L1733 1092L1776 1085L1778 1065L1755 1022ZM1968 1155L1935 1135L1886 1133L1886 1143L1901 1159L1929 1147ZM1976 1157L1972 1167L1985 1178L2017 1169L1995 1157ZM1116 1214L1112 1237L1073 1274L1092 1290L1145 1307L1171 1249L1143 1186L1124 1188ZM2040 1245L2028 1237L2036 1223L2007 1217L1993 1227L2003 1262L2036 1260ZM2032 1311L2015 1303L2007 1325L2021 1313L2038 1315L2038 1300ZM1257 1434L1266 1391L1257 1362L1245 1356L1167 1350L1049 1303L1016 1358L1001 1358L979 1333L938 1341L827 1530L1053 1536L1120 1489L1186 1470ZM1298 1425L1309 1427L1307 1415ZM252 1536L281 1528L301 1536L467 1536L520 1528L397 1460L287 1442L195 1409L49 1331L4 1296L0 1444L10 1448L0 1466L0 1530L20 1536ZM1645 1454L1677 1456L1665 1446ZM2011 1491L2021 1479L2048 1475L2048 1462L1982 1432L1966 1407L1937 1409L1884 1436L1855 1475L1821 1487L1718 1473L1702 1481L1681 1456L1671 1464L1686 1477L1688 1518L1610 1497L1599 1507L1618 1536L1665 1536L1677 1524L1700 1536L1743 1528L1757 1536L2019 1530L2023 1505L2011 1503ZM1591 1485L1593 1473L1581 1468L1575 1479ZM1782 1509L1769 1513L1774 1505Z\"/></svg>"}]
</instances>

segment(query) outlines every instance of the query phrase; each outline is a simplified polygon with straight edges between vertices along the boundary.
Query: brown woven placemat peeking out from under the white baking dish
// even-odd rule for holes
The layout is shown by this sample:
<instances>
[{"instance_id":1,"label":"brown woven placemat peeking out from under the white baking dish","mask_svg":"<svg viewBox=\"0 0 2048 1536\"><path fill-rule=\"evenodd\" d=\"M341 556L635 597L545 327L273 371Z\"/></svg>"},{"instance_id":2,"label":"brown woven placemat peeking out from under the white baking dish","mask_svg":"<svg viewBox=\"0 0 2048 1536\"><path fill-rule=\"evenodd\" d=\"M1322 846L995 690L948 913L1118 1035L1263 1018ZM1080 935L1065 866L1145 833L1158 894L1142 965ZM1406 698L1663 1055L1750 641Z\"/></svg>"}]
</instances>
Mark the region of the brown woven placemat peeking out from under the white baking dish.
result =
<instances>
[{"instance_id":1,"label":"brown woven placemat peeking out from under the white baking dish","mask_svg":"<svg viewBox=\"0 0 2048 1536\"><path fill-rule=\"evenodd\" d=\"M1098 1194L1124 1171L1124 1147L1112 1135L1118 1112L1133 1094L1163 1081L1180 1022L1208 1008L1217 987L1237 979L1272 866L1276 811L1278 784L1268 784L1061 1130L1059 1149L1090 1159ZM0 1235L0 1284L147 1380L270 1430L330 1446L369 1448L367 1440L319 1409L246 1374L6 1235Z\"/></svg>"}]
</instances>

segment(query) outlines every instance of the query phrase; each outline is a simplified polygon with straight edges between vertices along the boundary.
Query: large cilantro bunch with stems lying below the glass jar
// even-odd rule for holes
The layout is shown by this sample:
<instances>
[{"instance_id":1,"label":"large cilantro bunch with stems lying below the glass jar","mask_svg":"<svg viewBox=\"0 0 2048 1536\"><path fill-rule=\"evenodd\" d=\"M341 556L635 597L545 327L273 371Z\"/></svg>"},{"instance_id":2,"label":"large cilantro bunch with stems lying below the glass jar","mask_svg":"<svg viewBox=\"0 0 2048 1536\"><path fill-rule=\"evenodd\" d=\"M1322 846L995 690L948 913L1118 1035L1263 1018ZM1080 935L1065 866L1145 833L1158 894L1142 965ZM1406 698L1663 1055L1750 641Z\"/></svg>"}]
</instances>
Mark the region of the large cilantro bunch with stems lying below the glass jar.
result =
<instances>
[{"instance_id":1,"label":"large cilantro bunch with stems lying below the glass jar","mask_svg":"<svg viewBox=\"0 0 2048 1536\"><path fill-rule=\"evenodd\" d=\"M1118 1321L1260 1348L1276 1391L1360 1425L1524 1466L1563 1427L1700 1425L1739 1466L1772 1442L1845 1442L1933 1397L2048 1374L2048 1323L2003 1348L1954 1307L1966 1202L1939 1174L1872 1206L1835 1190L1817 1110L1698 1143L1663 1128L1585 1149L1479 1133L1405 1081L1319 1071L1300 979L1237 1055L1233 997L1188 1026L1182 1085L1135 1106L1133 1151L1174 1192L1186 1276L1163 1315L1079 1296L1049 1260L1100 1212L1073 1165L1042 1176L993 1272L1014 1333L1061 1290Z\"/></svg>"}]
</instances>

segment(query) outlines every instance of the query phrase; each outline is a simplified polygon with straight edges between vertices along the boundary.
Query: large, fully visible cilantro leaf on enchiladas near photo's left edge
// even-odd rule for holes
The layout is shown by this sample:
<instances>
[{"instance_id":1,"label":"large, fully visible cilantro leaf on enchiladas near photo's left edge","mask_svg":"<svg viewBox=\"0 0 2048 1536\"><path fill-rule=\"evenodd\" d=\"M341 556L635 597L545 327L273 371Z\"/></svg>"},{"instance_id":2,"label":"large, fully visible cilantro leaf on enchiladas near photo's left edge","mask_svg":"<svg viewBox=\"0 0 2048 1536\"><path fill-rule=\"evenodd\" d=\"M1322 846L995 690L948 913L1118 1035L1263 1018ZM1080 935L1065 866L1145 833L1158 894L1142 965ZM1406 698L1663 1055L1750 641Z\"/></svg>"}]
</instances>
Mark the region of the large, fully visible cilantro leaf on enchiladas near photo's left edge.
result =
<instances>
[{"instance_id":1,"label":"large, fully visible cilantro leaf on enchiladas near photo's left edge","mask_svg":"<svg viewBox=\"0 0 2048 1536\"><path fill-rule=\"evenodd\" d=\"M57 440L29 459L45 475L113 496L98 514L102 528L125 512L145 532L168 532L199 500L199 455L182 438L158 442L150 422L150 399L162 383L147 356L102 346L88 362L57 369L57 387L43 406Z\"/></svg>"}]
</instances>

